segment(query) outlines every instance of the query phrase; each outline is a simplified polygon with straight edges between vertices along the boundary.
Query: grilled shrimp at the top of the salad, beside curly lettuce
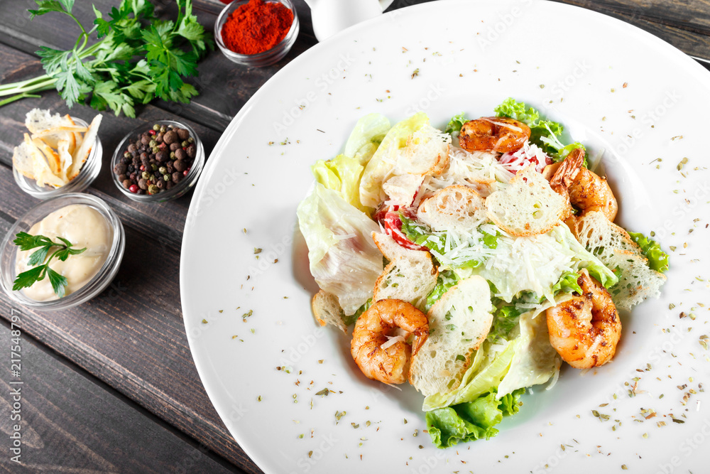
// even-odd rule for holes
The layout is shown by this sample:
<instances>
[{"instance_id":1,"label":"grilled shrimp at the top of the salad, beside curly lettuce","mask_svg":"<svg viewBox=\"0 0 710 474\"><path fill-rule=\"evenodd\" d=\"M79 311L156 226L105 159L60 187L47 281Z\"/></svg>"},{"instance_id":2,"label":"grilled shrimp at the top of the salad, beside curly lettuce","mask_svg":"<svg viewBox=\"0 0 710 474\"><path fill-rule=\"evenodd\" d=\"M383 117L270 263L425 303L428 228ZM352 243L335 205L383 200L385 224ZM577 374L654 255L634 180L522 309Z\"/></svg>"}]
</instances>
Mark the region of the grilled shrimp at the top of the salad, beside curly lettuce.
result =
<instances>
[{"instance_id":1,"label":"grilled shrimp at the top of the salad, beside curly lettuce","mask_svg":"<svg viewBox=\"0 0 710 474\"><path fill-rule=\"evenodd\" d=\"M523 147L530 138L530 127L506 117L481 117L461 126L459 145L466 151L507 153Z\"/></svg>"}]
</instances>

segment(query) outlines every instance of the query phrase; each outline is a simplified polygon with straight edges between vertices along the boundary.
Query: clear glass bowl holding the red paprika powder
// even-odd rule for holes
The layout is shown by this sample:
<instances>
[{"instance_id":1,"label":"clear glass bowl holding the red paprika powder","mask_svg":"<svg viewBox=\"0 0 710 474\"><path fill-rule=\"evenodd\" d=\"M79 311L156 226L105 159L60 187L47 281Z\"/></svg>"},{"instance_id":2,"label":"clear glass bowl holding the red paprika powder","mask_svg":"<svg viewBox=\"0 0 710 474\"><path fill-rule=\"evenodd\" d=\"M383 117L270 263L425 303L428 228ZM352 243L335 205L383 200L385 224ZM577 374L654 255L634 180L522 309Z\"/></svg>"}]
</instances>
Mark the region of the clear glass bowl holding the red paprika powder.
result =
<instances>
[{"instance_id":1,"label":"clear glass bowl holding the red paprika powder","mask_svg":"<svg viewBox=\"0 0 710 474\"><path fill-rule=\"evenodd\" d=\"M217 41L217 46L222 54L226 56L227 59L233 63L244 64L247 66L256 66L257 68L263 68L264 66L270 66L278 63L283 57L288 53L288 51L296 42L296 37L298 36L298 29L300 25L298 23L298 15L296 14L296 9L290 0L278 0L278 3L283 4L290 11L293 11L293 23L291 23L291 28L286 33L283 40L275 45L270 50L266 50L263 53L258 54L239 54L234 53L234 51L224 45L222 41L222 26L226 22L227 18L236 10L239 6L248 4L249 0L234 0L231 4L224 7L222 13L217 17L217 21L214 22L214 39Z\"/></svg>"}]
</instances>

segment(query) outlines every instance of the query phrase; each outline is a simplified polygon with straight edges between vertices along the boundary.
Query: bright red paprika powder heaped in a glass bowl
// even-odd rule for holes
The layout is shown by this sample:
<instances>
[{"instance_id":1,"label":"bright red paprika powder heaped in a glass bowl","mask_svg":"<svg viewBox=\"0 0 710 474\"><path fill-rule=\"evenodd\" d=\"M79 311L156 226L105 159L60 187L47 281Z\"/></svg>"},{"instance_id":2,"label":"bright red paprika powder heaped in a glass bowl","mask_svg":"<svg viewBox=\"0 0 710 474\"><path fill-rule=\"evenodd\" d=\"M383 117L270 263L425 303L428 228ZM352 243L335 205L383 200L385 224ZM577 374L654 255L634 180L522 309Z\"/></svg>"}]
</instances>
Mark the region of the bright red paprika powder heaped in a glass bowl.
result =
<instances>
[{"instance_id":1,"label":"bright red paprika powder heaped in a glass bowl","mask_svg":"<svg viewBox=\"0 0 710 474\"><path fill-rule=\"evenodd\" d=\"M222 26L222 41L234 53L258 54L278 45L293 23L293 11L276 1L249 0Z\"/></svg>"}]
</instances>

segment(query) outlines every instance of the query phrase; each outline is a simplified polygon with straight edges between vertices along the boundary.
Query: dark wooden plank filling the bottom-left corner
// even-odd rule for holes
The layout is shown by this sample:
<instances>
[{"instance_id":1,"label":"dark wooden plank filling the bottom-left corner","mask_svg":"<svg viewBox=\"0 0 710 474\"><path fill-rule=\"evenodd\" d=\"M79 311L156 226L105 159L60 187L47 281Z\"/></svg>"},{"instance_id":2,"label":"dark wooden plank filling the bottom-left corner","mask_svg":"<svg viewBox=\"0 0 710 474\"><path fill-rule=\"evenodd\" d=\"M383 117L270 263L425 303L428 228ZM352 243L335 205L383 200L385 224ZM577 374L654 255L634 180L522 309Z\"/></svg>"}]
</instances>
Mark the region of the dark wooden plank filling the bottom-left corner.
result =
<instances>
[{"instance_id":1,"label":"dark wooden plank filling the bottom-left corner","mask_svg":"<svg viewBox=\"0 0 710 474\"><path fill-rule=\"evenodd\" d=\"M5 307L4 312L9 313ZM24 315L13 311L23 326ZM242 472L209 453L195 441L178 436L154 416L116 394L75 365L41 348L22 333L19 344L11 328L0 324L0 351L16 351L20 376L11 377L9 360L0 387L8 396L0 400L5 416L0 419L4 453L11 453L9 436L18 424L21 442L18 460L0 460L0 468L13 473L30 472L132 472L132 473L229 473ZM19 345L18 348L11 346ZM22 382L21 384L12 382ZM10 397L12 390L19 394ZM11 404L19 402L10 419Z\"/></svg>"}]
</instances>

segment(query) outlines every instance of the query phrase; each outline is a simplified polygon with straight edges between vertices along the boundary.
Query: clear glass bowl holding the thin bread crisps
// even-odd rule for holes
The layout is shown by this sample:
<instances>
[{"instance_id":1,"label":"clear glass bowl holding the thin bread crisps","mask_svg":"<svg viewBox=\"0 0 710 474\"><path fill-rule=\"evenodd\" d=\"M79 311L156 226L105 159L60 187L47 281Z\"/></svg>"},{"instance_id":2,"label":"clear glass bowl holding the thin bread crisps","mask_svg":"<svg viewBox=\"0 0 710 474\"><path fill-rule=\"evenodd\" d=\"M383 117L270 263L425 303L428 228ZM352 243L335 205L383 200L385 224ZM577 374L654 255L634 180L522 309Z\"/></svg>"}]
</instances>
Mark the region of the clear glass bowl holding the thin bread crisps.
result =
<instances>
[{"instance_id":1,"label":"clear glass bowl holding the thin bread crisps","mask_svg":"<svg viewBox=\"0 0 710 474\"><path fill-rule=\"evenodd\" d=\"M89 126L87 122L84 122L84 120L78 119L77 117L72 117L72 120L77 125ZM94 179L99 176L99 171L101 171L101 158L103 154L104 149L101 145L101 140L97 135L96 143L92 146L91 151L89 151L87 161L84 161L84 165L79 171L79 174L77 174L72 181L60 186L59 188L37 185L35 180L28 178L17 171L14 165L12 167L12 174L15 176L15 182L18 186L20 186L20 189L34 198L50 199L66 193L80 193L84 189L88 188Z\"/></svg>"}]
</instances>

